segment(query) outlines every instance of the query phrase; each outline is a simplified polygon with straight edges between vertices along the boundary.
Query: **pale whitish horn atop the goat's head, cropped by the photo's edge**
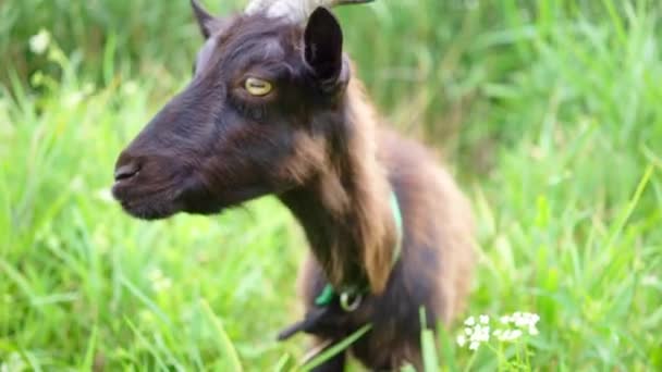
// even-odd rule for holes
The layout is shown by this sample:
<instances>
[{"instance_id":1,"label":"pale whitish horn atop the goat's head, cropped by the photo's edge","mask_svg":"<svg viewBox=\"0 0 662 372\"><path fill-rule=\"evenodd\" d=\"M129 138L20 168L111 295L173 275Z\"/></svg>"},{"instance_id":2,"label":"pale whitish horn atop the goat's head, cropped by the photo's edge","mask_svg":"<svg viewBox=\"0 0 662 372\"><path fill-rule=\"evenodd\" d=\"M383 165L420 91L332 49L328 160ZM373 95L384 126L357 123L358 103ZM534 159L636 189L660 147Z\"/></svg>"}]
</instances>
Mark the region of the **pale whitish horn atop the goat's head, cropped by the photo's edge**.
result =
<instances>
[{"instance_id":1,"label":"pale whitish horn atop the goat's head, cropped by the photo's edge","mask_svg":"<svg viewBox=\"0 0 662 372\"><path fill-rule=\"evenodd\" d=\"M318 7L333 8L371 1L373 0L252 0L245 13L263 13L269 17L284 17L293 23L304 23Z\"/></svg>"}]
</instances>

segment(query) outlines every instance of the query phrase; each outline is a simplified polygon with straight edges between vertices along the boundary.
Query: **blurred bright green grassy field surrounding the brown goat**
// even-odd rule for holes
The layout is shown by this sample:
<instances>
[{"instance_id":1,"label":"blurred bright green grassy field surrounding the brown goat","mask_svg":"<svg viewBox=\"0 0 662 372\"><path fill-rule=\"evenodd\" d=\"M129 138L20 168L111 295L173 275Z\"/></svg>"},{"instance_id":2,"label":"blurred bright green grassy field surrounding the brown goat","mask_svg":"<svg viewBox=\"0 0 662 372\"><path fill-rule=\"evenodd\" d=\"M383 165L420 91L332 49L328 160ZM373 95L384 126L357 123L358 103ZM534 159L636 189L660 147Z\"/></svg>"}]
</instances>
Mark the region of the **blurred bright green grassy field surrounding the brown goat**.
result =
<instances>
[{"instance_id":1,"label":"blurred bright green grassy field surrounding the brown goat","mask_svg":"<svg viewBox=\"0 0 662 372\"><path fill-rule=\"evenodd\" d=\"M0 3L0 371L290 370L303 355L302 337L274 342L301 311L306 250L274 199L146 223L109 196L118 151L200 44L186 1L154 3ZM459 320L428 369L662 370L662 5L532 3L339 11L383 115L437 146L474 202L464 315L540 317L538 335L476 351Z\"/></svg>"}]
</instances>

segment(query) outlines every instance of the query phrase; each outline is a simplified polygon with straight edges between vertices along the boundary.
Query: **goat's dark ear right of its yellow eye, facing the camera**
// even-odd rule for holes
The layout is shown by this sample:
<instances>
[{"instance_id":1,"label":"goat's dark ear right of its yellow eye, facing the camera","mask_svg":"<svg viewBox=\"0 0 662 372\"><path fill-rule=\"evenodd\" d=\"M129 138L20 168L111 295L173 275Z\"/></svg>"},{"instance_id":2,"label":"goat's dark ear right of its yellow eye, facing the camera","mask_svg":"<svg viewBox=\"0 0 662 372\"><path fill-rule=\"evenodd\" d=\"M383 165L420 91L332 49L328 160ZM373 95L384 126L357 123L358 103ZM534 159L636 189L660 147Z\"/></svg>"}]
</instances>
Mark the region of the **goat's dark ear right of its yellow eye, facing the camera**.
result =
<instances>
[{"instance_id":1,"label":"goat's dark ear right of its yellow eye, facing the camera","mask_svg":"<svg viewBox=\"0 0 662 372\"><path fill-rule=\"evenodd\" d=\"M343 75L343 32L326 8L317 8L308 18L304 58L322 86L335 85Z\"/></svg>"}]
</instances>

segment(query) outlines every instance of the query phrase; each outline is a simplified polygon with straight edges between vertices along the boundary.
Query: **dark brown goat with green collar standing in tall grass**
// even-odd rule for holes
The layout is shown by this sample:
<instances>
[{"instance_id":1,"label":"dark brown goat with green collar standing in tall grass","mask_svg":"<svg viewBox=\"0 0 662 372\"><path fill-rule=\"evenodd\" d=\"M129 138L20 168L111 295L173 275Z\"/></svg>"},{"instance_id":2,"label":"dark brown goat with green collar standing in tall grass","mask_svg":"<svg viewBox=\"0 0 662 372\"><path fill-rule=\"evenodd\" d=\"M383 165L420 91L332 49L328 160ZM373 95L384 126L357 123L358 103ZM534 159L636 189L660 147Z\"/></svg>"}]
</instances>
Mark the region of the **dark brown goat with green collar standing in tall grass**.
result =
<instances>
[{"instance_id":1,"label":"dark brown goat with green collar standing in tall grass","mask_svg":"<svg viewBox=\"0 0 662 372\"><path fill-rule=\"evenodd\" d=\"M471 278L471 216L453 178L421 146L377 128L328 10L302 27L194 8L207 38L195 76L122 151L114 197L134 216L162 219L277 195L311 247L299 276L307 313L320 311L327 284L365 288L356 309L336 295L303 330L326 345L371 323L351 347L356 358L420 367L419 309L428 324L448 324Z\"/></svg>"}]
</instances>

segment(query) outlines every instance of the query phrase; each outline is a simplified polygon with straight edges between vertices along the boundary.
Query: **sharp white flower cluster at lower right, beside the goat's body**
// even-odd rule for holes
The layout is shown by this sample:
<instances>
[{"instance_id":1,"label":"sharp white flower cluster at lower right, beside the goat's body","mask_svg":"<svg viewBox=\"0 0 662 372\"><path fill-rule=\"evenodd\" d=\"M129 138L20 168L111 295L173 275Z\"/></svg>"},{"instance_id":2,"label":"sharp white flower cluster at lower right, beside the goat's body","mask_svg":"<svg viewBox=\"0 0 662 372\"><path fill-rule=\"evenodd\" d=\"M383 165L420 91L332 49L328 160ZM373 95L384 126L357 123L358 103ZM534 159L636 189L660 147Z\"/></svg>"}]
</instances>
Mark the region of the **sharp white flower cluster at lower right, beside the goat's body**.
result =
<instances>
[{"instance_id":1,"label":"sharp white flower cluster at lower right, beside the goat's body","mask_svg":"<svg viewBox=\"0 0 662 372\"><path fill-rule=\"evenodd\" d=\"M538 334L537 324L540 317L530 312L516 311L512 315L499 318L503 327L490 328L490 317L480 315L478 320L469 317L464 321L464 332L457 336L457 345L464 347L468 344L469 350L476 350L482 343L488 343L490 336L494 336L499 342L513 342L522 337L525 332L535 336ZM512 326L512 327L511 327Z\"/></svg>"}]
</instances>

